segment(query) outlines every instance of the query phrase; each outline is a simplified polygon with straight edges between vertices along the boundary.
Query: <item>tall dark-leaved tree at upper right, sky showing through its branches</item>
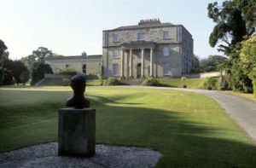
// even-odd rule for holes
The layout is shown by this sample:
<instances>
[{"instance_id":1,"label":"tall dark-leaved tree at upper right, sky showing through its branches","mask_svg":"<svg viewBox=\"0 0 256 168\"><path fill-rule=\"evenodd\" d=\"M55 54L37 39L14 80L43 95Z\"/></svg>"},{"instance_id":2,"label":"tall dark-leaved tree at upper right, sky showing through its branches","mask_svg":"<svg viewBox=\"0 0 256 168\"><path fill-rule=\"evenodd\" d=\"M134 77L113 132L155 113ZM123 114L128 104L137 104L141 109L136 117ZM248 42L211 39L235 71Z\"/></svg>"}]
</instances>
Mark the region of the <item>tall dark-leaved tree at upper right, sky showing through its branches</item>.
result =
<instances>
[{"instance_id":1,"label":"tall dark-leaved tree at upper right, sky showing through its branches","mask_svg":"<svg viewBox=\"0 0 256 168\"><path fill-rule=\"evenodd\" d=\"M255 32L252 17L255 11L254 0L230 0L224 1L222 6L218 3L208 4L208 17L215 23L209 38L209 43L225 55L230 54L230 47L241 42L245 36L250 36Z\"/></svg>"}]
</instances>

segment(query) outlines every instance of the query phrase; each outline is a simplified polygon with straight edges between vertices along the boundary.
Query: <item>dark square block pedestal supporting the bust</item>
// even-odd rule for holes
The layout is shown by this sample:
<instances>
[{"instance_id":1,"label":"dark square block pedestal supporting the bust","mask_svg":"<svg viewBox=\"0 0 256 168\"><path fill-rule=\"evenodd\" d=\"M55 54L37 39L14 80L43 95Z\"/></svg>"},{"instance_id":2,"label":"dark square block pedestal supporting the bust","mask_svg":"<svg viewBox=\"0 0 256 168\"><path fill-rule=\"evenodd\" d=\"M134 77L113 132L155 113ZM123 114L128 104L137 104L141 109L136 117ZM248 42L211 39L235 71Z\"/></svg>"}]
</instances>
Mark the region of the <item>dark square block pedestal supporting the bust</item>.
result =
<instances>
[{"instance_id":1,"label":"dark square block pedestal supporting the bust","mask_svg":"<svg viewBox=\"0 0 256 168\"><path fill-rule=\"evenodd\" d=\"M96 109L59 109L58 142L59 155L94 155Z\"/></svg>"}]
</instances>

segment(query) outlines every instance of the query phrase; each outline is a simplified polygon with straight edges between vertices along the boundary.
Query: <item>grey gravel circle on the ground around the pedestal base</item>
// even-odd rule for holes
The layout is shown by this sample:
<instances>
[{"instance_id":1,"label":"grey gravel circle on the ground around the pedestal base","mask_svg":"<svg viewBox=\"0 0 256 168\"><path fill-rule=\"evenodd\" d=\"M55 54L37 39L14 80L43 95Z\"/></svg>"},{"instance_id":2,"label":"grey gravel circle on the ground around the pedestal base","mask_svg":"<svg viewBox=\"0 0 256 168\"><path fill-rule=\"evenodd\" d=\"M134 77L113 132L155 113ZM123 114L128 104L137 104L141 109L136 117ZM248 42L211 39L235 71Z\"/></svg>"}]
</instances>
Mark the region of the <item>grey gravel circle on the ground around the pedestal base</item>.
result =
<instances>
[{"instance_id":1,"label":"grey gravel circle on the ground around the pedestal base","mask_svg":"<svg viewBox=\"0 0 256 168\"><path fill-rule=\"evenodd\" d=\"M161 154L148 148L96 145L91 158L58 156L58 143L49 142L0 154L0 167L154 167Z\"/></svg>"}]
</instances>

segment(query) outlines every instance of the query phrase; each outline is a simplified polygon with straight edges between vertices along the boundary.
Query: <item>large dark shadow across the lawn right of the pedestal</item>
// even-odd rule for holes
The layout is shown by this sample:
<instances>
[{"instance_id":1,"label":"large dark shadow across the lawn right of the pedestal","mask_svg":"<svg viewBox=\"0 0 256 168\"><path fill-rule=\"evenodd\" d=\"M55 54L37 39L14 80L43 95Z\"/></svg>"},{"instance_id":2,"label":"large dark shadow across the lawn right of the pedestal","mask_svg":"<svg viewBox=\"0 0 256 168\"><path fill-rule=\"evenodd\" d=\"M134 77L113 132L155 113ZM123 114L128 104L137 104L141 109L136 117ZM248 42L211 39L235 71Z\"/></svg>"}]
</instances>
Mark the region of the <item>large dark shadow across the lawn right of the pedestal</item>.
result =
<instances>
[{"instance_id":1,"label":"large dark shadow across the lawn right of the pedestal","mask_svg":"<svg viewBox=\"0 0 256 168\"><path fill-rule=\"evenodd\" d=\"M236 130L191 122L183 113L159 109L102 104L96 110L97 143L153 148L163 154L160 167L256 166L256 147L234 138Z\"/></svg>"}]
</instances>

